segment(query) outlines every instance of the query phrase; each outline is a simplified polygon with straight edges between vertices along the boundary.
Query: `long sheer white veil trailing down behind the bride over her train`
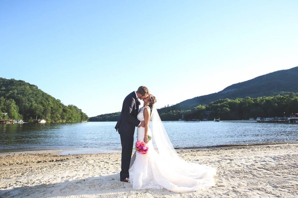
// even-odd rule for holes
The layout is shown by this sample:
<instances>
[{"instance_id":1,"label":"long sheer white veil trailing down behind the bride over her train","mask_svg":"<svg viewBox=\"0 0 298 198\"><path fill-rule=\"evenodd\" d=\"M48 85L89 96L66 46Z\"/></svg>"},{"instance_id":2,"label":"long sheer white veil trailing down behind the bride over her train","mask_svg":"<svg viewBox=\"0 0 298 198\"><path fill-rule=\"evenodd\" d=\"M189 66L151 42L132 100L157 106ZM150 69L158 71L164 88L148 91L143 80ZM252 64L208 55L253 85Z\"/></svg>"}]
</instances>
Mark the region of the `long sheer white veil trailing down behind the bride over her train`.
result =
<instances>
[{"instance_id":1,"label":"long sheer white veil trailing down behind the bride over her train","mask_svg":"<svg viewBox=\"0 0 298 198\"><path fill-rule=\"evenodd\" d=\"M196 191L214 186L213 176L216 175L216 169L187 162L178 156L155 106L151 111L149 126L155 148L152 161L157 183L174 192Z\"/></svg>"}]
</instances>

